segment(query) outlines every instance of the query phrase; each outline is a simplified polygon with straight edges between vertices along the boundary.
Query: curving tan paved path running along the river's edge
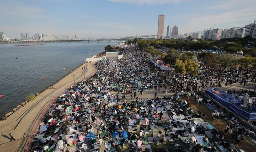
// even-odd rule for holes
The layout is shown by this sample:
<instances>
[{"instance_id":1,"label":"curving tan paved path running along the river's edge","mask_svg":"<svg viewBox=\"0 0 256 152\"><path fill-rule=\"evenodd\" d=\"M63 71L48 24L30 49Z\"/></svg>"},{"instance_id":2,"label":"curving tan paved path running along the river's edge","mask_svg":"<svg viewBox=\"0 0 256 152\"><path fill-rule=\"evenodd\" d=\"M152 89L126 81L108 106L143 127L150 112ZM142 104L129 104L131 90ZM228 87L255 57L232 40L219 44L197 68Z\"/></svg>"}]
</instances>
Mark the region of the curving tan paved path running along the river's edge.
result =
<instances>
[{"instance_id":1,"label":"curving tan paved path running along the river's edge","mask_svg":"<svg viewBox=\"0 0 256 152\"><path fill-rule=\"evenodd\" d=\"M21 152L23 147L27 147L26 145L41 113L54 98L63 94L69 86L74 85L73 74L75 74L75 82L78 82L83 80L84 77L85 79L89 78L95 72L94 63L82 64L75 71L54 84L53 89L46 89L36 99L28 102L6 120L0 121L0 151ZM16 141L10 142L9 133L12 133Z\"/></svg>"}]
</instances>

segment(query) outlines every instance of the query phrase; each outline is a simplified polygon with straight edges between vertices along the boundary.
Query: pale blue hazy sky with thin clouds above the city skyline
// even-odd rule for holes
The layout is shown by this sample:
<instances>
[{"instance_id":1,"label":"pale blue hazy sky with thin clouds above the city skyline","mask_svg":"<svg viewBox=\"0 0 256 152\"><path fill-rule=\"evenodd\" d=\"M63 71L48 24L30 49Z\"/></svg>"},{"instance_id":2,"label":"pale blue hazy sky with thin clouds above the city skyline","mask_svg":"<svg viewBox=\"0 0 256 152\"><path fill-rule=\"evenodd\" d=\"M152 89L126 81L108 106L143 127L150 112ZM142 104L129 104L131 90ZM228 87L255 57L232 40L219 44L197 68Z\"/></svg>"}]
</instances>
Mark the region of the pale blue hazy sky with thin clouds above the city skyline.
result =
<instances>
[{"instance_id":1,"label":"pale blue hazy sky with thin clouds above the city skyline","mask_svg":"<svg viewBox=\"0 0 256 152\"><path fill-rule=\"evenodd\" d=\"M0 0L0 31L77 37L157 33L158 15L179 33L243 27L256 19L256 0Z\"/></svg>"}]
</instances>

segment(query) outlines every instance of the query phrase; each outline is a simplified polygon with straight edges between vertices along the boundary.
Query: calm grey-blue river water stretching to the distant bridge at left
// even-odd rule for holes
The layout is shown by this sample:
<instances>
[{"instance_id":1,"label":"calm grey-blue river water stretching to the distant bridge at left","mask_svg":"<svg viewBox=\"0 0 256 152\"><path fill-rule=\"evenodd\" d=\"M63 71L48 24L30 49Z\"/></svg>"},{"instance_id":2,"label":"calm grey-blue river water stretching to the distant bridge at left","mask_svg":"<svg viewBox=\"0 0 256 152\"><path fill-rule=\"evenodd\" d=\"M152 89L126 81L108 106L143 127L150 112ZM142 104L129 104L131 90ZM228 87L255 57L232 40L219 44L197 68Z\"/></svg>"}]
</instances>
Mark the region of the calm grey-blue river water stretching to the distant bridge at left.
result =
<instances>
[{"instance_id":1,"label":"calm grey-blue river water stretching to the distant bridge at left","mask_svg":"<svg viewBox=\"0 0 256 152\"><path fill-rule=\"evenodd\" d=\"M0 44L0 94L5 95L0 98L0 117L24 102L28 94L46 89L86 58L104 51L108 44L117 42L46 43L23 47Z\"/></svg>"}]
</instances>

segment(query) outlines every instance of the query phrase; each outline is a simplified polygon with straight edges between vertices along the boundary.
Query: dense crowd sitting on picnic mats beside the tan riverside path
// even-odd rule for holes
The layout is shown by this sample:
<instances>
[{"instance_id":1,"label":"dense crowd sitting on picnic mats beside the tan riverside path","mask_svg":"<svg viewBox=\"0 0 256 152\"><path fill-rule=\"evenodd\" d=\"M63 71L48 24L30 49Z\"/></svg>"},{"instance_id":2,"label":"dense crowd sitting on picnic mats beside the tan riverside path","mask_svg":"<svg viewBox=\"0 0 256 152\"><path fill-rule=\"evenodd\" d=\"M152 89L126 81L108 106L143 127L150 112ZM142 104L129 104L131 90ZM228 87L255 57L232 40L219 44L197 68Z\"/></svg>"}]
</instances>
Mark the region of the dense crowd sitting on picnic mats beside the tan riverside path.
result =
<instances>
[{"instance_id":1,"label":"dense crowd sitting on picnic mats beside the tan riverside path","mask_svg":"<svg viewBox=\"0 0 256 152\"><path fill-rule=\"evenodd\" d=\"M152 152L153 145L174 141L181 141L171 147L176 151L234 150L232 144L224 142L223 133L187 103L195 99L198 105L210 104L200 96L202 89L207 84L219 85L218 81L229 76L216 80L207 73L194 77L160 71L150 65L149 58L133 46L125 49L123 59L98 61L93 77L69 88L48 110L32 142L32 151ZM138 94L147 89L155 90L155 98L138 99ZM160 98L158 94L163 92L173 95ZM213 120L219 116L220 111L215 111ZM231 126L226 131L239 143L246 130L234 133ZM248 134L255 136L252 131Z\"/></svg>"}]
</instances>

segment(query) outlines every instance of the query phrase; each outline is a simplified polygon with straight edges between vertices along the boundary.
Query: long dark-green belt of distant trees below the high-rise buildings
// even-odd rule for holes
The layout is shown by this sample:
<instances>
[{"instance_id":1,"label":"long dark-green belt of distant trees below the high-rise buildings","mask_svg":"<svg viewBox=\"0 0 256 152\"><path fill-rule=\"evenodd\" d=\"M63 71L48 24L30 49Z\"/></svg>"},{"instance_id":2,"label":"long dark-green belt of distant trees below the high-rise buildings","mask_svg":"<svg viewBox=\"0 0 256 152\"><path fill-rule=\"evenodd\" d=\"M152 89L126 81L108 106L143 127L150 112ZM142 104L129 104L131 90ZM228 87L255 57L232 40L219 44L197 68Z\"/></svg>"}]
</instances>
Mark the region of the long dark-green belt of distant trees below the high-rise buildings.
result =
<instances>
[{"instance_id":1,"label":"long dark-green belt of distant trees below the high-rise buildings","mask_svg":"<svg viewBox=\"0 0 256 152\"><path fill-rule=\"evenodd\" d=\"M166 40L141 40L140 38L135 38L133 41L128 40L130 43L137 43L140 48L145 48L148 46L152 47L171 47L174 49L184 49L184 50L197 50L197 49L212 49L217 50L222 48L228 53L237 53L243 51L245 55L251 57L256 57L256 39L252 39L250 36L244 38L230 38L230 39L221 39L218 41L204 40L200 39L197 42L191 40L181 40L181 39L166 39ZM254 46L252 48L245 47L251 44Z\"/></svg>"}]
</instances>

